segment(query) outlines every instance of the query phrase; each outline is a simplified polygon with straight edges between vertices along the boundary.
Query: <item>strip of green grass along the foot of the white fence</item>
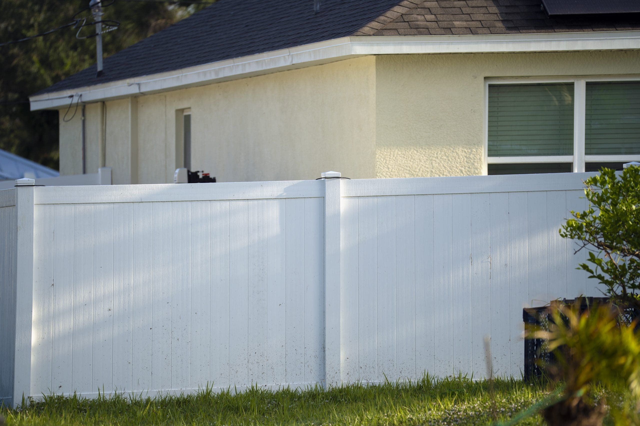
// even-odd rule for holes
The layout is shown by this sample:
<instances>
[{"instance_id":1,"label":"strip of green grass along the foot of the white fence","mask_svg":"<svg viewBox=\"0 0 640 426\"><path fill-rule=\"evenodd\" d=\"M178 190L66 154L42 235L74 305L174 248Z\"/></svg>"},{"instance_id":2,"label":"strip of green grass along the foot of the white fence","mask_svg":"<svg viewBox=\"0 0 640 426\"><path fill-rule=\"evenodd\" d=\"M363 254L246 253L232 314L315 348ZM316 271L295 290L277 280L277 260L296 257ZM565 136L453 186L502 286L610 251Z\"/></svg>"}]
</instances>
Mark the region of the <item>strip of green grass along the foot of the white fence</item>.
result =
<instances>
[{"instance_id":1,"label":"strip of green grass along the foot of the white fence","mask_svg":"<svg viewBox=\"0 0 640 426\"><path fill-rule=\"evenodd\" d=\"M543 384L513 379L487 381L429 377L415 383L351 385L325 391L234 394L211 390L178 397L84 399L61 396L22 410L0 408L7 425L490 425L506 420L548 395ZM539 415L520 425L543 424Z\"/></svg>"}]
</instances>

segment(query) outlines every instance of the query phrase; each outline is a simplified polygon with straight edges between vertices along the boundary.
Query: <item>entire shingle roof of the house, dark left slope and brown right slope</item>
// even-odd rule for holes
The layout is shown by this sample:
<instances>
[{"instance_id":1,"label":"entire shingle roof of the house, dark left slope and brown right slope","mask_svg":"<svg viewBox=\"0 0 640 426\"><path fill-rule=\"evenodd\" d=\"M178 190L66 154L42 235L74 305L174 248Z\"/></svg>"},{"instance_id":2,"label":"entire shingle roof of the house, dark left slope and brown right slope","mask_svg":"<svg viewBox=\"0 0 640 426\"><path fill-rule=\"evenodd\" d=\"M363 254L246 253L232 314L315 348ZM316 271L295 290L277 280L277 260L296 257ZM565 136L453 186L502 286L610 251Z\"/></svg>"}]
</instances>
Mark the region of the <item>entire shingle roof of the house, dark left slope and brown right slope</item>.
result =
<instances>
[{"instance_id":1,"label":"entire shingle roof of the house, dark left slope and brown right slope","mask_svg":"<svg viewBox=\"0 0 640 426\"><path fill-rule=\"evenodd\" d=\"M349 35L640 29L637 15L549 18L541 0L218 0L36 95L157 74Z\"/></svg>"}]
</instances>

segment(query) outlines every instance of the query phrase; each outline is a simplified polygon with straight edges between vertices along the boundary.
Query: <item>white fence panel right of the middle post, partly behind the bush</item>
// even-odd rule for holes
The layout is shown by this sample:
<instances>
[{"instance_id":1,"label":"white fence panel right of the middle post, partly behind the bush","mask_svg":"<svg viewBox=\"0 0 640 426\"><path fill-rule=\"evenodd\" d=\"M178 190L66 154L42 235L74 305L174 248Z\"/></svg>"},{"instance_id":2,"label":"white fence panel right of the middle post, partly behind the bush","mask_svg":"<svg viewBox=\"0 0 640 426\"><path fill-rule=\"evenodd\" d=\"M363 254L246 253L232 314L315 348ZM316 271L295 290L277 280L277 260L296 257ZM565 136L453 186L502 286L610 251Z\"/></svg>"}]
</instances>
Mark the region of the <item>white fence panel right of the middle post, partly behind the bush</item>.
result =
<instances>
[{"instance_id":1,"label":"white fence panel right of the middle post, partly behind the bush","mask_svg":"<svg viewBox=\"0 0 640 426\"><path fill-rule=\"evenodd\" d=\"M522 308L600 295L558 233L584 176L551 177L344 182L343 380L483 377L485 336L519 377Z\"/></svg>"}]
</instances>

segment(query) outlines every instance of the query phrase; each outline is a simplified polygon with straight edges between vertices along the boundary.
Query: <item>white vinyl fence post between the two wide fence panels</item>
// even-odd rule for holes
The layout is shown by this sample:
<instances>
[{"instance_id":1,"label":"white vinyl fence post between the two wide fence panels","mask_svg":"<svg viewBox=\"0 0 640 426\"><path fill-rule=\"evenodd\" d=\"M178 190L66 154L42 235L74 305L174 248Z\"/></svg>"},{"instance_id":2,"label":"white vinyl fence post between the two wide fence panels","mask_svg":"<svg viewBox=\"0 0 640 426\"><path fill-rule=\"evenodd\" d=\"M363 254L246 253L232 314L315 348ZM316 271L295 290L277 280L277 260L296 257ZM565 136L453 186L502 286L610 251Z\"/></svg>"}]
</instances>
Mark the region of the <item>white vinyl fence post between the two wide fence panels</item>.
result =
<instances>
[{"instance_id":1,"label":"white vinyl fence post between the two wide fence panels","mask_svg":"<svg viewBox=\"0 0 640 426\"><path fill-rule=\"evenodd\" d=\"M340 361L340 173L324 178L324 386L342 383Z\"/></svg>"}]
</instances>

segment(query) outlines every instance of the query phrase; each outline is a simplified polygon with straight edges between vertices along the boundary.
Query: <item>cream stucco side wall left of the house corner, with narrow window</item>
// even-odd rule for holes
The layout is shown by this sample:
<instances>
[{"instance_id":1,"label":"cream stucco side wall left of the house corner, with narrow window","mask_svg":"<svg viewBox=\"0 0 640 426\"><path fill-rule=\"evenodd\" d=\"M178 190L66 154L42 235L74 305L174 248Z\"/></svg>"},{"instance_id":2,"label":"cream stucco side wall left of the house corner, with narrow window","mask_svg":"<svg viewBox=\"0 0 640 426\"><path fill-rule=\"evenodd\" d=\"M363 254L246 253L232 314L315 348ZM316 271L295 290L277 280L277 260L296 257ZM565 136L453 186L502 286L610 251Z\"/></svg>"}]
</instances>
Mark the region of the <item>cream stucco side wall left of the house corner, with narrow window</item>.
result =
<instances>
[{"instance_id":1,"label":"cream stucco side wall left of the house corner, with narrow window","mask_svg":"<svg viewBox=\"0 0 640 426\"><path fill-rule=\"evenodd\" d=\"M145 95L135 98L133 110L130 100L106 102L106 166L113 168L114 184L134 178L140 184L173 182L181 166L176 111L191 108L191 169L205 170L218 182L314 179L328 170L371 178L374 84L375 58L367 57ZM96 106L87 107L88 120L99 117ZM87 129L88 153L97 156L99 132L93 124ZM80 134L60 127L61 145L79 144L69 137L71 130ZM130 149L138 154L136 165L129 164ZM88 172L96 161L88 161ZM69 162L81 164L76 157Z\"/></svg>"}]
</instances>

